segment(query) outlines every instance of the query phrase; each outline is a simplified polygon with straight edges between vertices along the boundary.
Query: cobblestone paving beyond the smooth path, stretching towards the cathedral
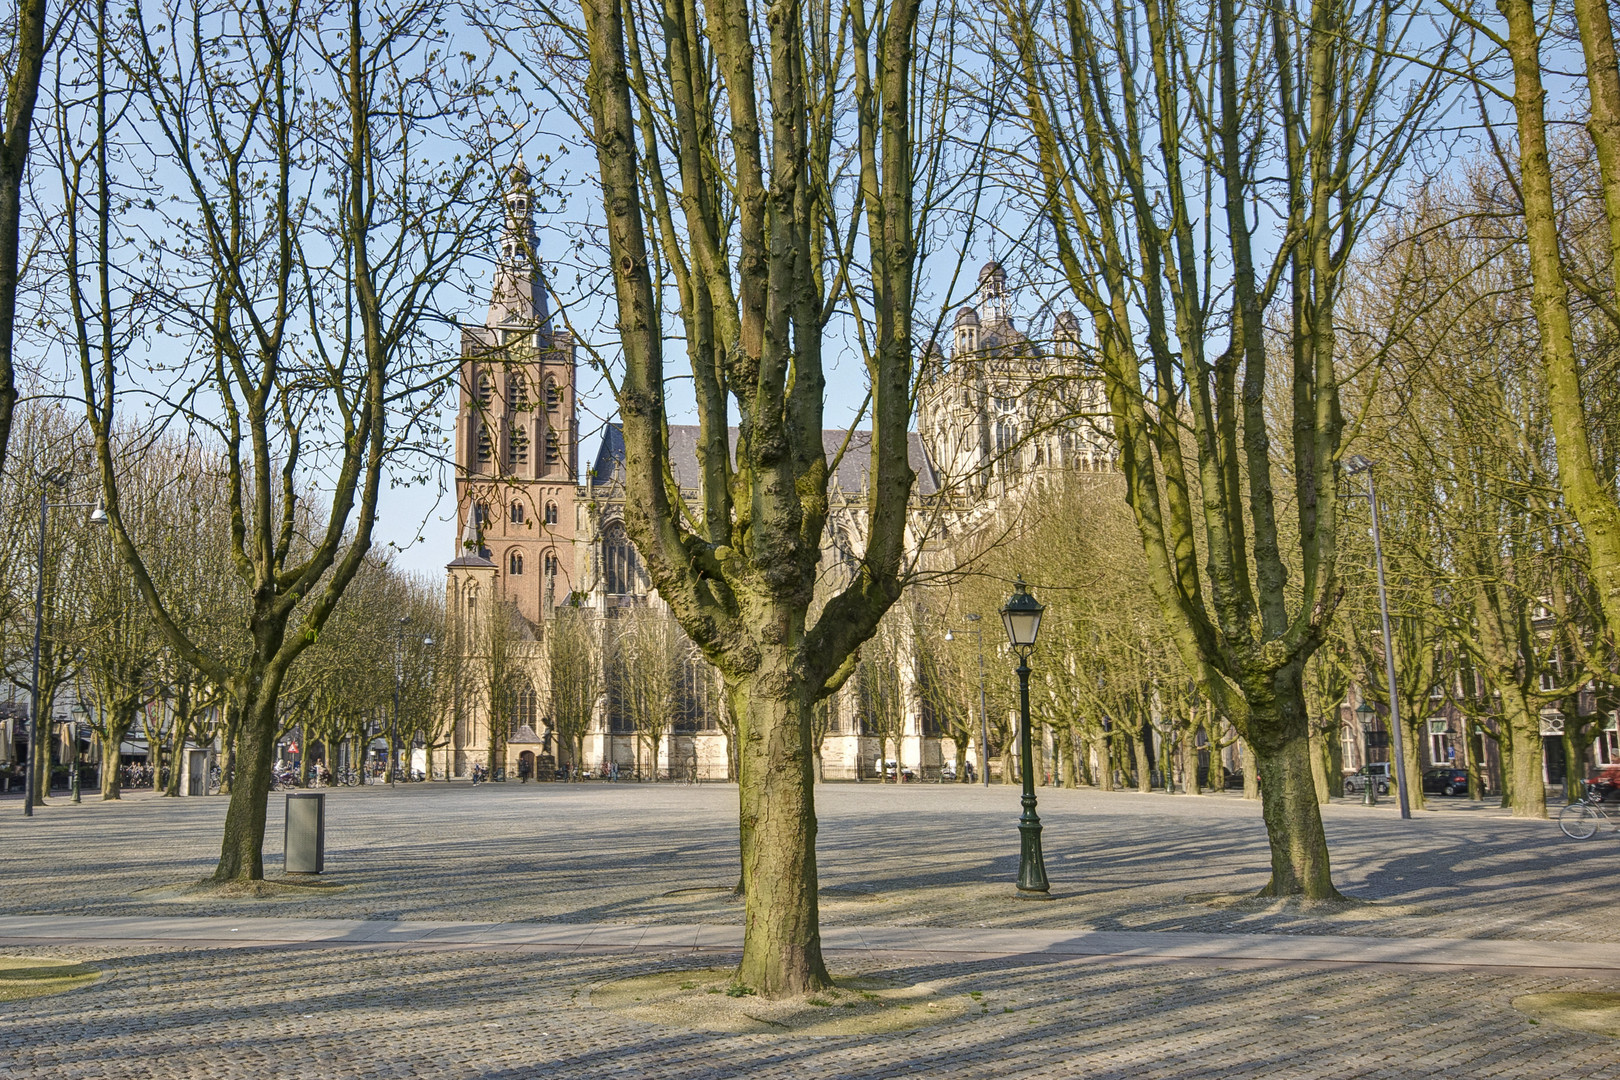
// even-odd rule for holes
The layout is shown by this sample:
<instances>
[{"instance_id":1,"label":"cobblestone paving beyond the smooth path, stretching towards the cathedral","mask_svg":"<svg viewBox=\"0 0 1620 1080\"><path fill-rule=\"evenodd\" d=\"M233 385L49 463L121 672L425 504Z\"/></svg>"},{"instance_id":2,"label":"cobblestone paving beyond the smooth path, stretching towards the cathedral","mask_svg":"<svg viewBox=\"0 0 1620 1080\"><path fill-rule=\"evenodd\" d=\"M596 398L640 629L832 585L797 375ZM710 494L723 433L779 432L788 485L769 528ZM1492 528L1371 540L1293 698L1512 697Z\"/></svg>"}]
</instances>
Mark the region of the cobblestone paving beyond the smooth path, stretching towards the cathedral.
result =
<instances>
[{"instance_id":1,"label":"cobblestone paving beyond the smooth path, stretching towards the cathedral","mask_svg":"<svg viewBox=\"0 0 1620 1080\"><path fill-rule=\"evenodd\" d=\"M143 892L206 876L225 800L55 801L28 821L0 800L0 910L258 913L585 923L742 921L735 789L684 784L410 784L327 793L327 873L347 887L288 900ZM274 795L266 863L280 873ZM1340 889L1380 902L1301 915L1189 902L1252 892L1268 853L1238 797L1042 790L1056 900L1021 904L1011 787L818 789L821 916L838 925L1068 926L1205 933L1615 941L1620 836L1567 839L1466 800L1401 821L1392 806L1325 810Z\"/></svg>"}]
</instances>

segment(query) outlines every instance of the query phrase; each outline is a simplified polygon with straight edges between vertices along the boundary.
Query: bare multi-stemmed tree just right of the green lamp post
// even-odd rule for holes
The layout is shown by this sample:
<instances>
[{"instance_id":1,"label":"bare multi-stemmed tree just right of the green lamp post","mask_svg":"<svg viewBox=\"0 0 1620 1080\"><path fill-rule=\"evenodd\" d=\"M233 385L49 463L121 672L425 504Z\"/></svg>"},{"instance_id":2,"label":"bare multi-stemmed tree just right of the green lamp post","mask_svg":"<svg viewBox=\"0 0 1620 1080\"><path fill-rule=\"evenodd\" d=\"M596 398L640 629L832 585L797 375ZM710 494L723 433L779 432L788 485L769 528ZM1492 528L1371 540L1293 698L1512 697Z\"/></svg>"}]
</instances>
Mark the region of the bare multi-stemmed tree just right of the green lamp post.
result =
<instances>
[{"instance_id":1,"label":"bare multi-stemmed tree just right of the green lamp post","mask_svg":"<svg viewBox=\"0 0 1620 1080\"><path fill-rule=\"evenodd\" d=\"M1153 593L1254 750L1265 892L1336 897L1301 685L1338 599L1335 303L1443 86L1401 58L1427 19L1361 0L998 10L1032 209L1090 317Z\"/></svg>"}]
</instances>

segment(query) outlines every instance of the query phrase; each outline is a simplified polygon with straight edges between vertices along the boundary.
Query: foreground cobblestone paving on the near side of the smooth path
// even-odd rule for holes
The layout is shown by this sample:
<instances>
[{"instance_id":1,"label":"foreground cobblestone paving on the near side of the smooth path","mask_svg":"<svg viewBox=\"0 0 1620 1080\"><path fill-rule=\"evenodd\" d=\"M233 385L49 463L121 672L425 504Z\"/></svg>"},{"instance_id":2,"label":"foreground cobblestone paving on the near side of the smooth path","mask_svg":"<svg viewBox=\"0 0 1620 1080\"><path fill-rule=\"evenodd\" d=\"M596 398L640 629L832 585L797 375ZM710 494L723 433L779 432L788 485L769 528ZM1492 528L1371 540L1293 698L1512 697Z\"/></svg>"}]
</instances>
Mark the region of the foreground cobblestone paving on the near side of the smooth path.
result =
<instances>
[{"instance_id":1,"label":"foreground cobblestone paving on the near side of the smooth path","mask_svg":"<svg viewBox=\"0 0 1620 1080\"><path fill-rule=\"evenodd\" d=\"M855 965L980 993L883 1036L708 1035L590 1006L591 986L713 957L400 949L87 950L102 980L0 1014L0 1075L271 1077L1615 1077L1614 1040L1511 999L1549 975L1072 960ZM854 972L850 972L854 973Z\"/></svg>"}]
</instances>

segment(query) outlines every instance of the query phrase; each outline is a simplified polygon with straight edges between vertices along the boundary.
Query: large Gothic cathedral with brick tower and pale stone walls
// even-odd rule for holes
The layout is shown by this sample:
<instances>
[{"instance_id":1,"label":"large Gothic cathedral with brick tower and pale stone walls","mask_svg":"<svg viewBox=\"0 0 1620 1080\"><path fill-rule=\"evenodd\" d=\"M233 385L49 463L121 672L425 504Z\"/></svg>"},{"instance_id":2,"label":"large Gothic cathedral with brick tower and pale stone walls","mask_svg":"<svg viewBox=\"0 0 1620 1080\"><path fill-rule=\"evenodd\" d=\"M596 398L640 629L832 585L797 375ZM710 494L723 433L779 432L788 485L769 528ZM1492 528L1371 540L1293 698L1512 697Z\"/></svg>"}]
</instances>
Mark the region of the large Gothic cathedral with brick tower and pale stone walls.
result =
<instances>
[{"instance_id":1,"label":"large Gothic cathedral with brick tower and pale stone walls","mask_svg":"<svg viewBox=\"0 0 1620 1080\"><path fill-rule=\"evenodd\" d=\"M489 313L483 325L462 332L455 419L462 528L446 580L447 638L462 643L470 667L480 664L480 627L496 606L515 615L515 640L504 648L520 670L518 687L509 695L510 716L491 717L475 690L463 695L447 743L429 753L437 776L468 776L475 764L491 761L491 750L492 764L507 776L546 776L554 766L629 776L648 761L620 716L611 680L580 761L565 761L567 751L552 737L544 659L548 623L559 606L586 612L606 640L627 609L659 601L624 529L624 440L616 424L604 426L591 466L583 474L578 468L575 343L549 314L528 180L522 162L509 173ZM927 560L949 562L948 538L987 521L1004 497L1042 476L1113 466L1106 405L1082 366L1079 322L1059 314L1045 340L1019 330L996 262L980 270L977 306L957 311L949 356L928 345L919 377L919 431L909 439L917 473L909 542ZM697 434L695 426L669 427L674 478L693 502ZM847 442L831 478L823 536L823 578L839 588L865 546L870 436L829 429L823 440L829 458ZM659 771L726 779L727 725L716 716L718 695L705 690L713 675L695 654L684 664L682 708L658 748ZM914 674L902 675L902 696L899 759L923 776L936 774L954 758L954 746L927 730ZM881 774L883 750L862 732L855 698L846 687L829 703L829 733L821 743L828 779ZM970 756L977 759L977 750Z\"/></svg>"}]
</instances>

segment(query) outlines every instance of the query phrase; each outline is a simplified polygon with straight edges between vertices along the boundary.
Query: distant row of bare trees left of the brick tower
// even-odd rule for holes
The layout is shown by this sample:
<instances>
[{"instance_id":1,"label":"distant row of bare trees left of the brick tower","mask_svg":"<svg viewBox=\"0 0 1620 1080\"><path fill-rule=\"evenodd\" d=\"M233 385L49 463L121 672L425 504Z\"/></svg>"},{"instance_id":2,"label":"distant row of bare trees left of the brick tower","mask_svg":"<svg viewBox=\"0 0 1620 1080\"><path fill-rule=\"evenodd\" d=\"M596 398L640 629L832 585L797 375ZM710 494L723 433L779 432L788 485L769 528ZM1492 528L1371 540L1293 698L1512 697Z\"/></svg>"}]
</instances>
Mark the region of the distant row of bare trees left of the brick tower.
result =
<instances>
[{"instance_id":1,"label":"distant row of bare trees left of the brick tower","mask_svg":"<svg viewBox=\"0 0 1620 1080\"><path fill-rule=\"evenodd\" d=\"M149 764L167 777L168 793L178 793L181 784L181 750L219 738L230 784L238 776L241 716L224 688L164 635L109 528L87 520L100 492L86 426L58 405L26 403L16 432L18 453L0 476L8 521L0 538L6 678L23 691L34 688L34 594L42 585L39 716L57 716L66 698L84 706L83 722L99 746L102 798L120 795L120 750L131 737L144 738ZM50 473L42 476L40 465ZM173 597L170 619L188 638L224 654L246 651L241 597L220 573L230 544L225 460L194 440L164 439L146 442L143 453L120 457L115 470L125 528L141 544L152 581ZM40 536L42 495L47 513ZM306 748L306 776L316 758L308 753L311 742L326 746L321 756L329 766L337 764L335 748L345 743L352 748L347 759L356 766L374 738L400 746L444 743L450 701L471 691L455 682L460 656L437 649L442 623L441 583L410 578L374 557L364 560L279 699L274 737L296 733ZM47 793L50 743L44 725L29 738L36 800ZM397 761L397 755L389 759Z\"/></svg>"}]
</instances>

